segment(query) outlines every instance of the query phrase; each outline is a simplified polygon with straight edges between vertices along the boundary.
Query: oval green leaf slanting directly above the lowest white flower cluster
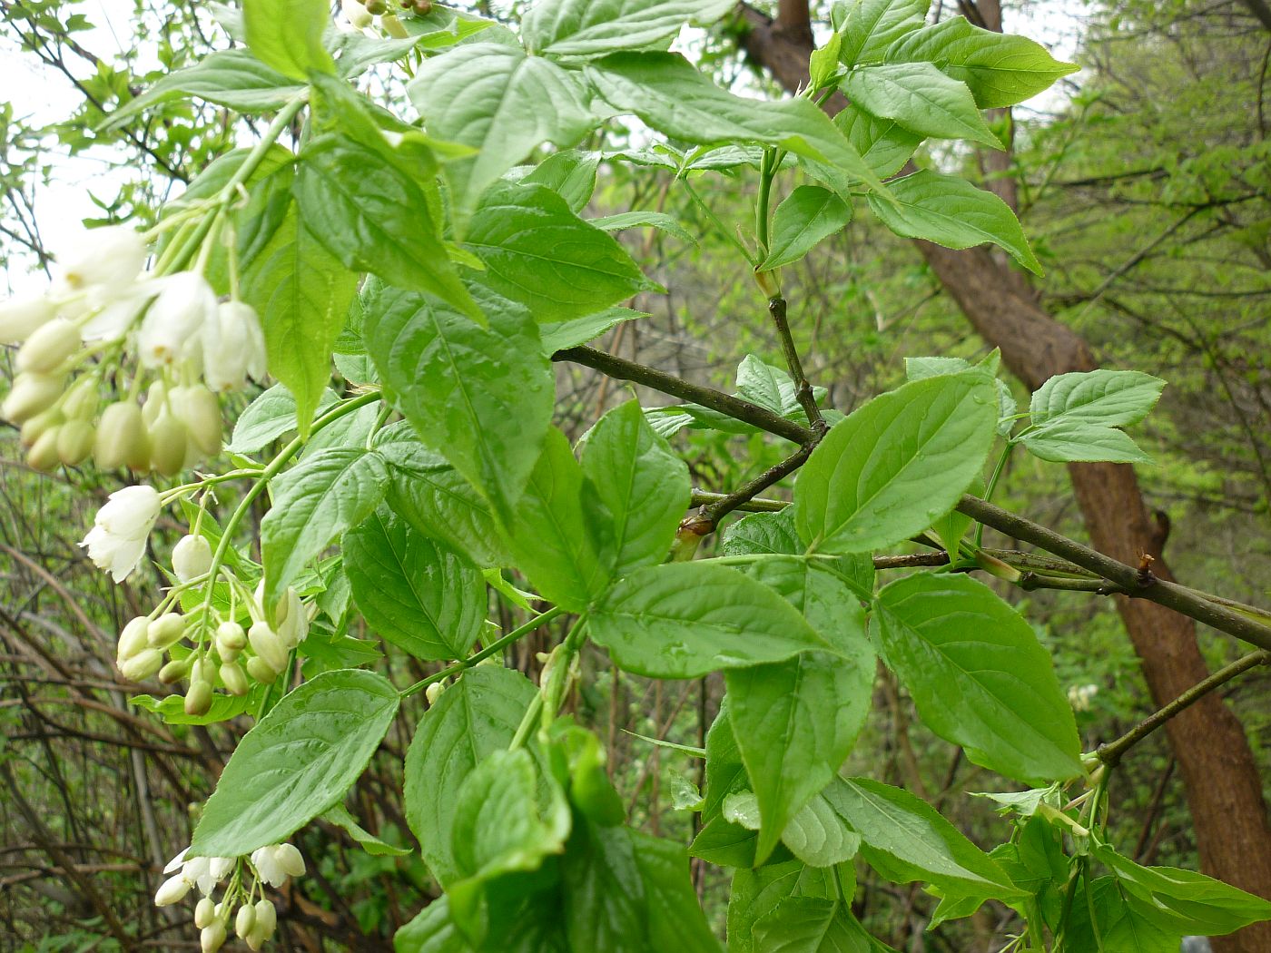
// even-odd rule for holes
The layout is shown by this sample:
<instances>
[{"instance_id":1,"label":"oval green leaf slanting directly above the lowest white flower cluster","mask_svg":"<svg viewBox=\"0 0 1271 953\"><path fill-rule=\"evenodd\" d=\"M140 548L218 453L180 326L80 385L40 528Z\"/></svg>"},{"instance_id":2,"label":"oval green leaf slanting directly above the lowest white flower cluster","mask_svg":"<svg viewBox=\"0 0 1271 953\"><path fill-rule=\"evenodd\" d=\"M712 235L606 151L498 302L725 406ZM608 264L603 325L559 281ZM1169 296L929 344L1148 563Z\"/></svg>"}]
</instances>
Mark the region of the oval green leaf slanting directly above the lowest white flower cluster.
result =
<instances>
[{"instance_id":1,"label":"oval green leaf slanting directly above the lowest white flower cluster","mask_svg":"<svg viewBox=\"0 0 1271 953\"><path fill-rule=\"evenodd\" d=\"M371 760L397 709L397 689L358 668L324 672L285 695L230 756L191 854L250 854L329 811Z\"/></svg>"}]
</instances>

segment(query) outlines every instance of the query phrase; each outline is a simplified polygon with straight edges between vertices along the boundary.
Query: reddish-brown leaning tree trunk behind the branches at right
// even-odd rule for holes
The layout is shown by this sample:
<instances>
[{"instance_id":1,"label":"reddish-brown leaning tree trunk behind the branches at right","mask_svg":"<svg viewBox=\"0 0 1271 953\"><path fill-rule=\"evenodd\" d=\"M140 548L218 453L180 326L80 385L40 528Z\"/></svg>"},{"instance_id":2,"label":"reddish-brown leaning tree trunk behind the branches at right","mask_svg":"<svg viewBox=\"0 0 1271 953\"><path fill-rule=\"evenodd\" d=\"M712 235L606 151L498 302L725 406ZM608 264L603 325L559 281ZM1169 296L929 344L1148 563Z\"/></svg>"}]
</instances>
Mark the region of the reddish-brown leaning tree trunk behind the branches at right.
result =
<instances>
[{"instance_id":1,"label":"reddish-brown leaning tree trunk behind the branches at right","mask_svg":"<svg viewBox=\"0 0 1271 953\"><path fill-rule=\"evenodd\" d=\"M995 13L995 4L993 8ZM742 8L742 13L750 25L747 53L787 89L806 83L811 43L798 39L807 36L806 30L787 30L750 8ZM835 108L833 100L827 108ZM927 241L916 245L971 325L1002 349L1003 362L1030 389L1056 374L1094 367L1085 342L1042 310L1023 274L989 250L953 252ZM1168 577L1160 558L1164 534L1149 516L1134 469L1125 464L1071 464L1069 474L1094 546L1126 563L1138 563L1143 553L1152 554L1157 557L1153 572ZM1191 619L1146 600L1116 600L1158 706L1209 675ZM1271 827L1257 764L1240 723L1218 695L1209 695L1172 719L1166 731L1181 767L1201 868L1271 898ZM1215 940L1214 949L1266 953L1271 950L1271 924Z\"/></svg>"}]
</instances>

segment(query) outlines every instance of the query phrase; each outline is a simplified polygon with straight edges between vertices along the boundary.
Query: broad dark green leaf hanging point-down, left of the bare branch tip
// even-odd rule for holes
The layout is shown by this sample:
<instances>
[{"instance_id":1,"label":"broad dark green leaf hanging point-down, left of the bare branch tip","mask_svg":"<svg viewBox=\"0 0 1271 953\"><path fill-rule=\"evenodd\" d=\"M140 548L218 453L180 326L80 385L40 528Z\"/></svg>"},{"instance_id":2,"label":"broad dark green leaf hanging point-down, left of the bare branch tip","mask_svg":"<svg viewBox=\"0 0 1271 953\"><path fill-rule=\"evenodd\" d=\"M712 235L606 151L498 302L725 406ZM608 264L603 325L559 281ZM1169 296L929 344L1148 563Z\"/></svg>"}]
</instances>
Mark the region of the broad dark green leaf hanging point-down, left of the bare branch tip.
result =
<instances>
[{"instance_id":1,"label":"broad dark green leaf hanging point-down, left of the bare branch tip","mask_svg":"<svg viewBox=\"0 0 1271 953\"><path fill-rule=\"evenodd\" d=\"M511 522L552 418L554 380L529 315L489 300L489 328L397 288L375 295L366 349L390 400Z\"/></svg>"}]
</instances>

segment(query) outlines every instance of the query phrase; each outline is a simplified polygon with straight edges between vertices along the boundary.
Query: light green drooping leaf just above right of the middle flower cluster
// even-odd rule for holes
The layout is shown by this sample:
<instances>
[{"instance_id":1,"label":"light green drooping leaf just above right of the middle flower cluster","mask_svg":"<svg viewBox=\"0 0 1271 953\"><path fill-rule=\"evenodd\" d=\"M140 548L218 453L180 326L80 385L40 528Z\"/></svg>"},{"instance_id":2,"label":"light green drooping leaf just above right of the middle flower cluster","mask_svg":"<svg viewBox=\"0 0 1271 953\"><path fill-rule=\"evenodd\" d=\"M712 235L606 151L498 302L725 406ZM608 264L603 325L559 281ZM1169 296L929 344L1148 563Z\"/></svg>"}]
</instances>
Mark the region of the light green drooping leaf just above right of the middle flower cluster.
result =
<instances>
[{"instance_id":1,"label":"light green drooping leaf just above right of the middle flower cluster","mask_svg":"<svg viewBox=\"0 0 1271 953\"><path fill-rule=\"evenodd\" d=\"M384 497L384 457L330 447L273 480L273 506L261 521L264 601L273 605L310 559L375 512Z\"/></svg>"}]
</instances>

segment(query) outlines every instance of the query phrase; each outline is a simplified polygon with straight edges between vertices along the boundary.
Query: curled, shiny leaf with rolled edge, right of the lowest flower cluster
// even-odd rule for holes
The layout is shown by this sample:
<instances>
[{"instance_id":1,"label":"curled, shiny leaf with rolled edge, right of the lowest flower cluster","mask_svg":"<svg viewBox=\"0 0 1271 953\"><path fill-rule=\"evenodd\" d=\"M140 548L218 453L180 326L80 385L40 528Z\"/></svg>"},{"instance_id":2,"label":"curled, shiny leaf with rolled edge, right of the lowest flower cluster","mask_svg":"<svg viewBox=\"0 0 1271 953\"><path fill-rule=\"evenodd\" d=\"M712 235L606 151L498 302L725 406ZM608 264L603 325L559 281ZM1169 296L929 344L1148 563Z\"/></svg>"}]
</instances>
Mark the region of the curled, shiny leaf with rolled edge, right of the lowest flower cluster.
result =
<instances>
[{"instance_id":1,"label":"curled, shiny leaf with rolled edge, right of the lowest flower cluster","mask_svg":"<svg viewBox=\"0 0 1271 953\"><path fill-rule=\"evenodd\" d=\"M547 811L538 801L538 769L525 748L492 751L464 778L455 794L450 850L461 879L446 891L459 928L480 933L479 903L488 882L536 870L564 848L569 809L554 788Z\"/></svg>"}]
</instances>

